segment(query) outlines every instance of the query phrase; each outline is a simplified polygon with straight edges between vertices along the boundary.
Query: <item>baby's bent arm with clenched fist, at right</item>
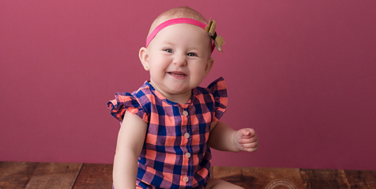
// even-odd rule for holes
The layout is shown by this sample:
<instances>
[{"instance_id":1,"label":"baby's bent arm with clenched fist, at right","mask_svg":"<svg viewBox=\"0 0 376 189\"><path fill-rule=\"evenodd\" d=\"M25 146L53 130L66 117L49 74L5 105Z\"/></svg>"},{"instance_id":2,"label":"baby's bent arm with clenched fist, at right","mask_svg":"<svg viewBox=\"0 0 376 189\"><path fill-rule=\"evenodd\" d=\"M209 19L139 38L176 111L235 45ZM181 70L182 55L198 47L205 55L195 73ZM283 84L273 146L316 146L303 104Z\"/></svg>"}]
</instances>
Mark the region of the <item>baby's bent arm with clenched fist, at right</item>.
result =
<instances>
[{"instance_id":1,"label":"baby's bent arm with clenched fist, at right","mask_svg":"<svg viewBox=\"0 0 376 189\"><path fill-rule=\"evenodd\" d=\"M234 131L224 122L212 122L210 127L209 147L221 151L256 151L258 138L253 129L240 129Z\"/></svg>"}]
</instances>

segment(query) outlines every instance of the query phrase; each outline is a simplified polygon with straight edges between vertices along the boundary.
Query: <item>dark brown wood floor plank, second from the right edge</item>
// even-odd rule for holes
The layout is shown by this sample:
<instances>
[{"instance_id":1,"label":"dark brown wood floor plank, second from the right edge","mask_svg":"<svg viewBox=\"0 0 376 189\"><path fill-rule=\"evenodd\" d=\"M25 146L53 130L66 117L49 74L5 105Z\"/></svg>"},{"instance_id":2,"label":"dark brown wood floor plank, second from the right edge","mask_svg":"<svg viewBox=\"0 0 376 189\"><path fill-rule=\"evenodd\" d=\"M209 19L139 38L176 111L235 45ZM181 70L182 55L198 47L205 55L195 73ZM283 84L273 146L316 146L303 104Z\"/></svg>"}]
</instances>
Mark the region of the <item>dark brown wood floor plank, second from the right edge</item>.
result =
<instances>
[{"instance_id":1,"label":"dark brown wood floor plank, second from the right edge","mask_svg":"<svg viewBox=\"0 0 376 189\"><path fill-rule=\"evenodd\" d=\"M301 169L304 188L350 188L343 170Z\"/></svg>"}]
</instances>

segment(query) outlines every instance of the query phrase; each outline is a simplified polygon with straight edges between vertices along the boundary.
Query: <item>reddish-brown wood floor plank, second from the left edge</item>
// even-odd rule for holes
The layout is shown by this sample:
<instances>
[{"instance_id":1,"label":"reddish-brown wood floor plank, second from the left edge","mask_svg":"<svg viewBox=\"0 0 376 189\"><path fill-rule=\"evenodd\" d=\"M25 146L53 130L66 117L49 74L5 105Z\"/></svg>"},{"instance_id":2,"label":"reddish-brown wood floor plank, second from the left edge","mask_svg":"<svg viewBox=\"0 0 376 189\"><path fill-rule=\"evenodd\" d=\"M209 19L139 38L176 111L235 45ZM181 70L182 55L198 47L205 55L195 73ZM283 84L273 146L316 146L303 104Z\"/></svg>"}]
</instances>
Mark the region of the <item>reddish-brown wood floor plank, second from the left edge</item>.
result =
<instances>
[{"instance_id":1,"label":"reddish-brown wood floor plank, second from the left edge","mask_svg":"<svg viewBox=\"0 0 376 189\"><path fill-rule=\"evenodd\" d=\"M72 188L82 163L40 163L26 189Z\"/></svg>"}]
</instances>

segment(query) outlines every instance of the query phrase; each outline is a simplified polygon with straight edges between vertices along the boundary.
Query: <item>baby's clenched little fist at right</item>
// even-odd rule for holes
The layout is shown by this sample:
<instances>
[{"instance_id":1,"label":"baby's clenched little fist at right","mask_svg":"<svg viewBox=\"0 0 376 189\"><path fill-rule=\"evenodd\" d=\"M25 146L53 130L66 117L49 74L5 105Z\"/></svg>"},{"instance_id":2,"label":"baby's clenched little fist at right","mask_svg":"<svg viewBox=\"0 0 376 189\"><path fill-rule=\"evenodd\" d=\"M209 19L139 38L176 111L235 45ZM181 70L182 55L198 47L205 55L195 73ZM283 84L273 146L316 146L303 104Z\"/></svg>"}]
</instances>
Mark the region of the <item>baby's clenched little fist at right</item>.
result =
<instances>
[{"instance_id":1,"label":"baby's clenched little fist at right","mask_svg":"<svg viewBox=\"0 0 376 189\"><path fill-rule=\"evenodd\" d=\"M233 137L234 145L240 151L254 152L258 147L258 138L253 129L240 129Z\"/></svg>"}]
</instances>

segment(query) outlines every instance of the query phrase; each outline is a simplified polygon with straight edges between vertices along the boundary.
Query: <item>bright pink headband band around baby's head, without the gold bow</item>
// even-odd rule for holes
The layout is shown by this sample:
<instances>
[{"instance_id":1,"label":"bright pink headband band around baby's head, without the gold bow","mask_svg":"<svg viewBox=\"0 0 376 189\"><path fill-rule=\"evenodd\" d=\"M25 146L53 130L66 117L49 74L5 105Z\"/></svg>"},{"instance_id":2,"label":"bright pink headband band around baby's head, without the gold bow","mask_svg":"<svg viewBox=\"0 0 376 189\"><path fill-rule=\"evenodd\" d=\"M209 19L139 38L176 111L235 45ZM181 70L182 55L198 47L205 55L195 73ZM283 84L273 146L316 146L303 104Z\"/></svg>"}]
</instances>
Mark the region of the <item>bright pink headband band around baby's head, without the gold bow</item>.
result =
<instances>
[{"instance_id":1,"label":"bright pink headband band around baby's head, without the gold bow","mask_svg":"<svg viewBox=\"0 0 376 189\"><path fill-rule=\"evenodd\" d=\"M157 33L159 31L161 31L163 28L166 28L167 26L171 26L173 24L192 24L192 25L198 26L200 28L203 28L204 30L205 30L205 27L207 26L203 22L200 22L200 21L198 21L196 19L190 19L190 18L184 18L184 17L169 19L166 22L163 22L162 24L159 24L154 29L154 31L152 31L152 33L150 33L148 39L146 40L146 47L148 47L149 43L152 41L153 38L155 38L155 35L157 35ZM215 48L215 44L213 43L212 44L212 51L214 50L214 48Z\"/></svg>"}]
</instances>

